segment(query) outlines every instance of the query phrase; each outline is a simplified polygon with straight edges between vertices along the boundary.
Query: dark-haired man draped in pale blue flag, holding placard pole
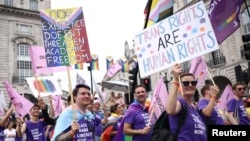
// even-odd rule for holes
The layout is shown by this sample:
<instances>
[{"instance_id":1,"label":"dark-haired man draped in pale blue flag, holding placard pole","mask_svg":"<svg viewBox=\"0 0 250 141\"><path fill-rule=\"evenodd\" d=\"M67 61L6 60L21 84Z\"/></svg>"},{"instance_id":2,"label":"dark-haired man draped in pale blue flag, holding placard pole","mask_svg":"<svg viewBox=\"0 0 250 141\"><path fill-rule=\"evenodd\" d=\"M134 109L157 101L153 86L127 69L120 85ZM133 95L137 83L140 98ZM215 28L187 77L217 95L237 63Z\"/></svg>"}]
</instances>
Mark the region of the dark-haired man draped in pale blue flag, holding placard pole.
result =
<instances>
[{"instance_id":1,"label":"dark-haired man draped in pale blue flag, holding placard pole","mask_svg":"<svg viewBox=\"0 0 250 141\"><path fill-rule=\"evenodd\" d=\"M75 104L66 108L57 119L52 141L94 141L95 125L98 123L87 110L87 106L91 104L90 87L86 84L76 85L73 99Z\"/></svg>"}]
</instances>

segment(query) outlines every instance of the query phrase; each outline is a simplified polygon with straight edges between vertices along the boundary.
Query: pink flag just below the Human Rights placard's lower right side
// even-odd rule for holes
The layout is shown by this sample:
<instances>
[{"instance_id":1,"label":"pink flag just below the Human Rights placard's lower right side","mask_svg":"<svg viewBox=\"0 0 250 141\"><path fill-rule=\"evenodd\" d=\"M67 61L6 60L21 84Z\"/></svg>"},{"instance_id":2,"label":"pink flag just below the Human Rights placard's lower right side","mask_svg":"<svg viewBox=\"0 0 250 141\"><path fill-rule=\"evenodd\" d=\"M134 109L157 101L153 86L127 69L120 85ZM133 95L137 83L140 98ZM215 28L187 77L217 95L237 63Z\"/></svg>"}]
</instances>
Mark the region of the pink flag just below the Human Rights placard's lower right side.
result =
<instances>
[{"instance_id":1,"label":"pink flag just below the Human Rights placard's lower right side","mask_svg":"<svg viewBox=\"0 0 250 141\"><path fill-rule=\"evenodd\" d=\"M196 87L205 81L208 74L207 64L201 56L192 60L189 73L194 74L195 79L198 81Z\"/></svg>"}]
</instances>

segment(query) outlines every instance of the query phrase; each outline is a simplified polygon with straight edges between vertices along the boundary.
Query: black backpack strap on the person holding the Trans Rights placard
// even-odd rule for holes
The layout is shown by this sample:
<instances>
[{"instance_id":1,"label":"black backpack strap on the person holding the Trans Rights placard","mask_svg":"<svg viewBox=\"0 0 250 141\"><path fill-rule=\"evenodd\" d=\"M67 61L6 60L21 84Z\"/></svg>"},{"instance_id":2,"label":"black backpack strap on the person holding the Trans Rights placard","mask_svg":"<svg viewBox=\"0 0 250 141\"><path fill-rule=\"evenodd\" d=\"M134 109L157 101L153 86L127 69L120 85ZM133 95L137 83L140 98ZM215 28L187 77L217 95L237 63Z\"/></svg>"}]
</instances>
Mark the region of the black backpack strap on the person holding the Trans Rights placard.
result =
<instances>
[{"instance_id":1,"label":"black backpack strap on the person holding the Trans Rights placard","mask_svg":"<svg viewBox=\"0 0 250 141\"><path fill-rule=\"evenodd\" d=\"M182 109L180 111L180 118L178 119L178 126L177 126L177 130L175 132L175 136L177 137L179 132L180 132L180 129L181 127L184 125L184 123L186 122L186 119L187 119L187 114L188 114L188 109L187 109L187 106L182 104Z\"/></svg>"}]
</instances>

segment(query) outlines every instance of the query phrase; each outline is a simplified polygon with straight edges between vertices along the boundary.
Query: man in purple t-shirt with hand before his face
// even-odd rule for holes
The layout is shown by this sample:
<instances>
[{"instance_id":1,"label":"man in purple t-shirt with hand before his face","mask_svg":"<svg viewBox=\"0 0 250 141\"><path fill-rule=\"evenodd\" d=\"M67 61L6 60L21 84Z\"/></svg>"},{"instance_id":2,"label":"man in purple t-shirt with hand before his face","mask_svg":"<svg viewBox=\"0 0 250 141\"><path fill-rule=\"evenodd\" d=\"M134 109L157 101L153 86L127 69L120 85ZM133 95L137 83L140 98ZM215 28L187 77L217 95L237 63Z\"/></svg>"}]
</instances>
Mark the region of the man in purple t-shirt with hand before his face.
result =
<instances>
[{"instance_id":1,"label":"man in purple t-shirt with hand before his face","mask_svg":"<svg viewBox=\"0 0 250 141\"><path fill-rule=\"evenodd\" d=\"M215 107L219 88L213 85L204 85L201 88L202 98L198 102L198 109L201 117L207 125L224 125L222 115Z\"/></svg>"}]
</instances>

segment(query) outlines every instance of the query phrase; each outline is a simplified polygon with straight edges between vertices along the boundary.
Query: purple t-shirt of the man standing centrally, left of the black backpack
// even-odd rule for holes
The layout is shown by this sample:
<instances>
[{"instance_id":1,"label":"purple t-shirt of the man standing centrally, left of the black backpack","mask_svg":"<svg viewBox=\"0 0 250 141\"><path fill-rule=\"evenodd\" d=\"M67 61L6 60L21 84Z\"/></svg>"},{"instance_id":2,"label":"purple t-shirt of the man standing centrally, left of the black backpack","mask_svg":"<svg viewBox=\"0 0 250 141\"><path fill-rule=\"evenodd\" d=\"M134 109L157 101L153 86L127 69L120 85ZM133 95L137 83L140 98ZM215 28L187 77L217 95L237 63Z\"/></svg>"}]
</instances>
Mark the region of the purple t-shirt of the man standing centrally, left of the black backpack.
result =
<instances>
[{"instance_id":1,"label":"purple t-shirt of the man standing centrally, left of the black backpack","mask_svg":"<svg viewBox=\"0 0 250 141\"><path fill-rule=\"evenodd\" d=\"M145 128L149 123L149 114L142 109L136 112L131 112L125 118L124 122L131 124L132 129L140 130ZM132 138L133 141L150 141L151 132L149 132L147 135L133 135Z\"/></svg>"}]
</instances>

